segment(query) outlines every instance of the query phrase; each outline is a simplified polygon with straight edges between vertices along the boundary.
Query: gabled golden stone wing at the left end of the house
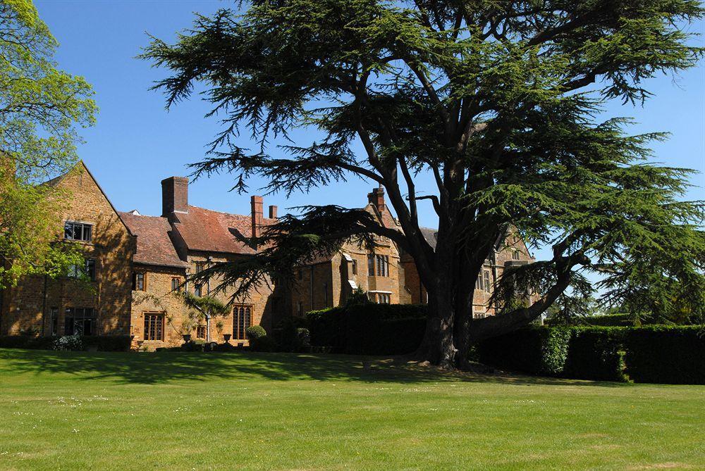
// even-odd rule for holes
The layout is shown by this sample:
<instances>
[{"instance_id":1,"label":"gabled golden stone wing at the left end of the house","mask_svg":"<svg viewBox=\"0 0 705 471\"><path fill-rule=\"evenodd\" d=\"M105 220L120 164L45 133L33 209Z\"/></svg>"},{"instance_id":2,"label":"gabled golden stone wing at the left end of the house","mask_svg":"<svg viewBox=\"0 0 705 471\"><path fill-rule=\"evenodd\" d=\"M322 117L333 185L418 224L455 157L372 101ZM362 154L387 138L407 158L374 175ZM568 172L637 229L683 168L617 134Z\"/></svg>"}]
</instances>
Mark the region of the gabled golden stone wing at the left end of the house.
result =
<instances>
[{"instance_id":1,"label":"gabled golden stone wing at the left end of the house","mask_svg":"<svg viewBox=\"0 0 705 471\"><path fill-rule=\"evenodd\" d=\"M6 289L0 333L130 334L135 236L82 163L47 184L71 195L56 237L80 245L86 265L75 268L73 275L85 270L87 280L32 276Z\"/></svg>"}]
</instances>

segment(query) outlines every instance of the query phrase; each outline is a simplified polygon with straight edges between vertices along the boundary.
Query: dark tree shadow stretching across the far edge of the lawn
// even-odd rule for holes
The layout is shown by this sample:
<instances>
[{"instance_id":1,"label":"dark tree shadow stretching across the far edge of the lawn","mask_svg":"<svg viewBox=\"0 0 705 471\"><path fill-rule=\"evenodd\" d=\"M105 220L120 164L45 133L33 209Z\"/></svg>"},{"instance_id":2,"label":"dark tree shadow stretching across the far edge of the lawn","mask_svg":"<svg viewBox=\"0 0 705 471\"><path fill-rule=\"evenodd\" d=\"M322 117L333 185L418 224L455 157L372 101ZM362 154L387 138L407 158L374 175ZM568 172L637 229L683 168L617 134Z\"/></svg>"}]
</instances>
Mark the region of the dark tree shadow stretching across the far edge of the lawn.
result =
<instances>
[{"instance_id":1,"label":"dark tree shadow stretching across the far edge of the lawn","mask_svg":"<svg viewBox=\"0 0 705 471\"><path fill-rule=\"evenodd\" d=\"M363 360L369 363L364 368ZM367 361L369 360L369 362ZM17 350L0 348L0 376L18 373L75 375L77 379L111 379L121 384L165 384L179 380L271 379L289 381L359 381L394 383L494 382L501 384L589 385L587 382L518 375L478 375L421 366L405 358L296 353L116 353Z\"/></svg>"}]
</instances>

